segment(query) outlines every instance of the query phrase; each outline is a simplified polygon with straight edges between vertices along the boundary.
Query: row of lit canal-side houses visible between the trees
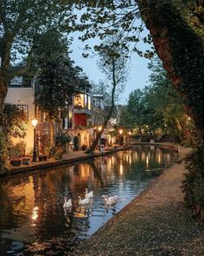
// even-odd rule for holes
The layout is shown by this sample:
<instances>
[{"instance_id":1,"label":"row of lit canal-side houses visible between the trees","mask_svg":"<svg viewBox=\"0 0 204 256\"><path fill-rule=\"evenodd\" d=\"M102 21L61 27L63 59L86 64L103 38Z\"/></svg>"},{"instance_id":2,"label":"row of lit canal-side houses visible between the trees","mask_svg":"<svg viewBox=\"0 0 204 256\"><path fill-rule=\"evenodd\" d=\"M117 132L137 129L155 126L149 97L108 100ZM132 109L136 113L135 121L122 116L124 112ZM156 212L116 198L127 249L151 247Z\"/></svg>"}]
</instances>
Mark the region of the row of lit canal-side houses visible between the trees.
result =
<instances>
[{"instance_id":1,"label":"row of lit canal-side houses visible between the trees","mask_svg":"<svg viewBox=\"0 0 204 256\"><path fill-rule=\"evenodd\" d=\"M21 108L27 116L27 135L24 139L13 138L15 144L19 141L24 141L26 144L26 154L30 154L34 148L34 143L37 143L40 153L45 153L49 143L49 124L46 120L46 114L41 112L35 106L35 91L37 84L35 80L25 82L22 77L16 77L10 82L10 88L6 96L6 102L13 103ZM114 111L114 116L109 123L109 128L118 123L119 108ZM92 93L81 92L77 96L72 96L69 107L67 108L67 117L61 120L61 131L68 133L72 137L68 147L73 148L74 137L78 137L79 147L89 148L92 141L97 135L100 126L105 118L105 105L103 95L92 95ZM32 120L37 120L35 128L32 125ZM54 125L54 133L58 133L57 125ZM34 137L35 136L35 137ZM107 139L114 141L106 131ZM35 142L34 142L35 141Z\"/></svg>"}]
</instances>

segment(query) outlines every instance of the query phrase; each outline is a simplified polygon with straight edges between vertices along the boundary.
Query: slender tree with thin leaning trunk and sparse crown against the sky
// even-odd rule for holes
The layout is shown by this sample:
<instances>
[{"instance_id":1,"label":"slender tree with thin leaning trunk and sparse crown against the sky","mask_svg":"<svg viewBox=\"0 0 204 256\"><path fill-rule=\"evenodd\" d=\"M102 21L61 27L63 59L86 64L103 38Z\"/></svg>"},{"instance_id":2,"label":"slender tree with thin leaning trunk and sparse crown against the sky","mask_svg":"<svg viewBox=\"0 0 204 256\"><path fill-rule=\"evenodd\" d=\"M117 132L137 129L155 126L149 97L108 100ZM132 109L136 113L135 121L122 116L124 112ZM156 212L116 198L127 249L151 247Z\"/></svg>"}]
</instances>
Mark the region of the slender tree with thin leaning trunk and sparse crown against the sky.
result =
<instances>
[{"instance_id":1,"label":"slender tree with thin leaning trunk and sparse crown against the sky","mask_svg":"<svg viewBox=\"0 0 204 256\"><path fill-rule=\"evenodd\" d=\"M98 145L99 138L104 132L104 129L108 121L112 117L112 112L115 107L115 102L118 98L118 94L124 89L124 82L126 79L126 62L127 58L123 49L119 44L115 45L115 37L110 36L109 39L103 44L102 49L99 50L99 69L105 74L106 83L109 85L111 94L111 107L109 112L105 116L105 121L101 130L96 136L96 139L92 142L91 150L94 150Z\"/></svg>"}]
</instances>

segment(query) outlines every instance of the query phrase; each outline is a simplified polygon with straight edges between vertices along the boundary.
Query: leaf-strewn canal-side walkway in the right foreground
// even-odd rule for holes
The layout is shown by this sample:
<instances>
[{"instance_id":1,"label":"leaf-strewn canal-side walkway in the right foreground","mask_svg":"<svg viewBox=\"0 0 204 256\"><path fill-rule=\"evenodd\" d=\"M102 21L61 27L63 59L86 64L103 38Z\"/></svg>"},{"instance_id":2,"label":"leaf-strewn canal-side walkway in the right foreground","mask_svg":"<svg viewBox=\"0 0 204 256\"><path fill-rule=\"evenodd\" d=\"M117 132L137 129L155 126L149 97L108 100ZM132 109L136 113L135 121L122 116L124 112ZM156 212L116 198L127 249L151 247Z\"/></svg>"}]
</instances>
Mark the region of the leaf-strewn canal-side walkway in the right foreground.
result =
<instances>
[{"instance_id":1,"label":"leaf-strewn canal-side walkway in the right foreground","mask_svg":"<svg viewBox=\"0 0 204 256\"><path fill-rule=\"evenodd\" d=\"M73 255L203 256L204 224L183 205L185 172L183 162L170 167Z\"/></svg>"}]
</instances>

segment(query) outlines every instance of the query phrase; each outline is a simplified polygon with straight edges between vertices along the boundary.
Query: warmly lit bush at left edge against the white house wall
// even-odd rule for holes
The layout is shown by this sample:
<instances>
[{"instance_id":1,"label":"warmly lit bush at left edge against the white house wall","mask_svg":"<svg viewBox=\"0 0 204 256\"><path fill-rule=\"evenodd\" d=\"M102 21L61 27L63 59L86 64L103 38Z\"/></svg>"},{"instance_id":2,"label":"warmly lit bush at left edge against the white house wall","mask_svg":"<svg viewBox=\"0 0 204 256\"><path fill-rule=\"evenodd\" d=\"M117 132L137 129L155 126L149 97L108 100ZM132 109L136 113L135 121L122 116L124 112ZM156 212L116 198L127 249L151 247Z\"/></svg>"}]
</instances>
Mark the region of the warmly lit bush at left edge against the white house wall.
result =
<instances>
[{"instance_id":1,"label":"warmly lit bush at left edge against the white house wall","mask_svg":"<svg viewBox=\"0 0 204 256\"><path fill-rule=\"evenodd\" d=\"M15 104L6 103L3 114L0 114L0 126L8 136L24 138L26 135L27 116Z\"/></svg>"}]
</instances>

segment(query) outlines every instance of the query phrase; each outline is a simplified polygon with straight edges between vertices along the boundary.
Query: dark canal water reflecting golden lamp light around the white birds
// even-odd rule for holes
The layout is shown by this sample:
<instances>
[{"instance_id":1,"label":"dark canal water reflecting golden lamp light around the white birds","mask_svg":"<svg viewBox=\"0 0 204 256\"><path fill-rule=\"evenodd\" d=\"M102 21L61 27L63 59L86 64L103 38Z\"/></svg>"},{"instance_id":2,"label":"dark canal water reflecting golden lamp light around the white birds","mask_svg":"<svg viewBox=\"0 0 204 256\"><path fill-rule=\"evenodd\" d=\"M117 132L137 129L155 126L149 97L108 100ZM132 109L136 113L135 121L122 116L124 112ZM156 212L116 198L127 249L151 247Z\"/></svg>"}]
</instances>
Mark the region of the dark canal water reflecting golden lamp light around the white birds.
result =
<instances>
[{"instance_id":1,"label":"dark canal water reflecting golden lamp light around the white birds","mask_svg":"<svg viewBox=\"0 0 204 256\"><path fill-rule=\"evenodd\" d=\"M72 166L0 180L0 255L68 255L81 240L140 194L175 157L169 149L137 146ZM90 204L79 205L86 187ZM118 195L105 207L102 195ZM63 199L73 207L63 209Z\"/></svg>"}]
</instances>

